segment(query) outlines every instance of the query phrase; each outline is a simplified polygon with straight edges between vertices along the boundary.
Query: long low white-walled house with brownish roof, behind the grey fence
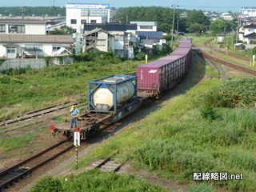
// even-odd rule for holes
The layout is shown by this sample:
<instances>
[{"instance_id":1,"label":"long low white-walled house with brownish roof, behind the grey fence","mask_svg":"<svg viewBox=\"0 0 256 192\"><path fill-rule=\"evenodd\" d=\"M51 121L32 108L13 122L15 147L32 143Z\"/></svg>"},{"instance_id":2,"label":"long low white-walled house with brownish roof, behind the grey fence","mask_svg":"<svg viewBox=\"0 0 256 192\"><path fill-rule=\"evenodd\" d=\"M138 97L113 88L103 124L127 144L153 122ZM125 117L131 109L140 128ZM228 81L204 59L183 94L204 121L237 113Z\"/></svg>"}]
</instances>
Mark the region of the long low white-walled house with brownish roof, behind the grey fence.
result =
<instances>
[{"instance_id":1,"label":"long low white-walled house with brownish roof, behind the grey fence","mask_svg":"<svg viewBox=\"0 0 256 192\"><path fill-rule=\"evenodd\" d=\"M45 57L61 48L71 52L73 43L72 35L0 34L0 58Z\"/></svg>"}]
</instances>

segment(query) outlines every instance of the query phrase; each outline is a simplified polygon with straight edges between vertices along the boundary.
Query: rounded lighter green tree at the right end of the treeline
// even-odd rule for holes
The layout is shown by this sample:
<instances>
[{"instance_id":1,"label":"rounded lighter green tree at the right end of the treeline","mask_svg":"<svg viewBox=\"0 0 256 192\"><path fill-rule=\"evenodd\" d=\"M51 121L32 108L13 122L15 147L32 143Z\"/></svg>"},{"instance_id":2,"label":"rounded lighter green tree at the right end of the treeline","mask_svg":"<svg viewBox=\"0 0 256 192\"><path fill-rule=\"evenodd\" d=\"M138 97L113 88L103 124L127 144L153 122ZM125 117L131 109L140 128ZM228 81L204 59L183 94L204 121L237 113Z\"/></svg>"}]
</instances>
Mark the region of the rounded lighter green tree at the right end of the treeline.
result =
<instances>
[{"instance_id":1,"label":"rounded lighter green tree at the right end of the treeline","mask_svg":"<svg viewBox=\"0 0 256 192\"><path fill-rule=\"evenodd\" d=\"M223 34L226 33L226 31L231 30L232 26L232 22L226 21L224 19L216 19L210 23L210 30L214 34Z\"/></svg>"}]
</instances>

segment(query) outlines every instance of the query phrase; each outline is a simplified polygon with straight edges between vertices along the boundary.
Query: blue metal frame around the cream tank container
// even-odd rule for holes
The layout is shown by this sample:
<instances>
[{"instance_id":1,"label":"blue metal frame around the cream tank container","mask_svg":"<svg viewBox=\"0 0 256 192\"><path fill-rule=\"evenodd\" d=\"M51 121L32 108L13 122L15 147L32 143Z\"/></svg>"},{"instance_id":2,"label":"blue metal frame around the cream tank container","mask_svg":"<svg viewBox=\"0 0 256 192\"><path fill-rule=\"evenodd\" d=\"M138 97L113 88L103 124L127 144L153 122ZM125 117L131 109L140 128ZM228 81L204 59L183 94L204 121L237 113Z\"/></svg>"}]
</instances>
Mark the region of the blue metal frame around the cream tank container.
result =
<instances>
[{"instance_id":1,"label":"blue metal frame around the cream tank container","mask_svg":"<svg viewBox=\"0 0 256 192\"><path fill-rule=\"evenodd\" d=\"M120 82L99 82L103 79L106 78L113 78L113 77L122 77L126 78ZM121 105L118 106L118 101L117 101L117 87L118 85L124 83L124 82L135 82L133 83L134 85L134 96L130 98L128 101L126 101L126 105ZM94 84L96 85L93 90L91 90L91 85ZM110 86L114 86L114 91L110 89ZM96 106L94 106L93 103L93 94L94 91L97 90L98 88L106 88L110 90L110 92L113 94L113 106L110 106L108 109L103 110L103 109L97 109ZM118 113L121 110L126 109L129 106L134 105L136 102L138 102L138 97L137 97L137 76L132 76L132 75L117 75L117 74L112 74L110 76L106 76L104 78L98 78L93 81L88 82L88 110L89 111L95 111L95 112L105 112L105 113Z\"/></svg>"}]
</instances>

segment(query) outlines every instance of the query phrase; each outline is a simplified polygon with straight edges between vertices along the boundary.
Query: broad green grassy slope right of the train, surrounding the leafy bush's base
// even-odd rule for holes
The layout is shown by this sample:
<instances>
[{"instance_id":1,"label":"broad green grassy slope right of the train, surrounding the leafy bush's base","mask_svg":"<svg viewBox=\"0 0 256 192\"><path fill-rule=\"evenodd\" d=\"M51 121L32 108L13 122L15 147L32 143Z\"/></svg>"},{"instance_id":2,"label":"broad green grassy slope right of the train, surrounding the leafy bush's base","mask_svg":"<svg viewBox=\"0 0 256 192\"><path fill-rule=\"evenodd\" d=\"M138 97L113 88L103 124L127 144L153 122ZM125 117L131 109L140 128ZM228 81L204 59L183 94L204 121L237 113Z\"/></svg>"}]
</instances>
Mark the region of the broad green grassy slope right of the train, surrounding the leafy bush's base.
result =
<instances>
[{"instance_id":1,"label":"broad green grassy slope right of the train, surrounding the leafy bush's base","mask_svg":"<svg viewBox=\"0 0 256 192\"><path fill-rule=\"evenodd\" d=\"M244 174L244 180L212 181L214 186L230 191L256 190L255 108L216 108L214 119L203 118L200 112L200 93L220 82L204 80L185 95L172 98L139 125L99 146L80 166L119 151L120 158L135 167L165 178L193 184L194 172L227 171ZM208 189L203 183L199 189ZM196 189L192 191L200 191Z\"/></svg>"}]
</instances>

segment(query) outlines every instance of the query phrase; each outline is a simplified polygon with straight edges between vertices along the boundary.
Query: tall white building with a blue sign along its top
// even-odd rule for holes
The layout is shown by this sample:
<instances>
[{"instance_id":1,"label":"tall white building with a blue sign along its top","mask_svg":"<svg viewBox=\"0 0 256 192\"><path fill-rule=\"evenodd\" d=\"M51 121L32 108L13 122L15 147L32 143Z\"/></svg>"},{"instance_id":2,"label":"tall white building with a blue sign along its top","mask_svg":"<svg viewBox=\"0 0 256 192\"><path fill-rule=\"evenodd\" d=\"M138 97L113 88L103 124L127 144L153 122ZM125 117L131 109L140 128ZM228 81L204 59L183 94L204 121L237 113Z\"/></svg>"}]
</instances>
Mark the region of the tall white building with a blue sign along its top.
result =
<instances>
[{"instance_id":1,"label":"tall white building with a blue sign along its top","mask_svg":"<svg viewBox=\"0 0 256 192\"><path fill-rule=\"evenodd\" d=\"M66 25L82 33L85 23L110 22L109 4L66 3Z\"/></svg>"}]
</instances>

